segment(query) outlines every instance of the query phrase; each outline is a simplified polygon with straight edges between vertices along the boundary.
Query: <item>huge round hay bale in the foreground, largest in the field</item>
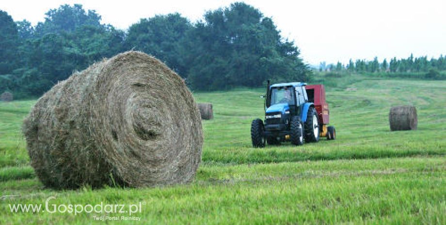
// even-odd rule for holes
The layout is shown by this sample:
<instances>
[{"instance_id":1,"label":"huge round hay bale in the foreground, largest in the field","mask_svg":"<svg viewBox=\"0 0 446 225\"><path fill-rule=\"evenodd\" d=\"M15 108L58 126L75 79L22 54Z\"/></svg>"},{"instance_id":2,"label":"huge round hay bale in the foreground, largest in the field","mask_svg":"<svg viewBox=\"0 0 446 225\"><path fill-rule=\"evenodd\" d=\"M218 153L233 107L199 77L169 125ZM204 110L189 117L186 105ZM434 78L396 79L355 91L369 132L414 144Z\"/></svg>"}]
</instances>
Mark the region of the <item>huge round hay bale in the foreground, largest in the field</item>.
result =
<instances>
[{"instance_id":1,"label":"huge round hay bale in the foreground, largest in the field","mask_svg":"<svg viewBox=\"0 0 446 225\"><path fill-rule=\"evenodd\" d=\"M203 144L200 112L184 81L136 51L55 85L23 132L31 165L53 188L189 182Z\"/></svg>"}]
</instances>

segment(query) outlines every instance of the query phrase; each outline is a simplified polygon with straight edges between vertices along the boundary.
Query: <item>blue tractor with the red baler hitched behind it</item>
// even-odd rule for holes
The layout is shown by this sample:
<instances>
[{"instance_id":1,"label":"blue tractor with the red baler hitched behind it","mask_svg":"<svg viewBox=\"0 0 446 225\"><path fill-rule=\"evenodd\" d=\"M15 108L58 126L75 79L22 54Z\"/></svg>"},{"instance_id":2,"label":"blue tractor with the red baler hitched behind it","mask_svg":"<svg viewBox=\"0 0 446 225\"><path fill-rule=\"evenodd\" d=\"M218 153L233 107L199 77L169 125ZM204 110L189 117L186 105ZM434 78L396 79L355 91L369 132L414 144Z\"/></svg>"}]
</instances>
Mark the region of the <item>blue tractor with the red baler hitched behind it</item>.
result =
<instances>
[{"instance_id":1,"label":"blue tractor with the red baler hitched behind it","mask_svg":"<svg viewBox=\"0 0 446 225\"><path fill-rule=\"evenodd\" d=\"M270 85L268 80L267 84L266 96L261 96L265 98L265 120L255 119L251 124L255 148L263 148L266 143L279 145L284 141L294 145L302 145L303 141L318 142L321 135L335 139L334 127L326 127L322 122L325 118L328 123L328 104L322 85L305 90L306 83L302 82ZM315 106L315 99L323 103Z\"/></svg>"}]
</instances>

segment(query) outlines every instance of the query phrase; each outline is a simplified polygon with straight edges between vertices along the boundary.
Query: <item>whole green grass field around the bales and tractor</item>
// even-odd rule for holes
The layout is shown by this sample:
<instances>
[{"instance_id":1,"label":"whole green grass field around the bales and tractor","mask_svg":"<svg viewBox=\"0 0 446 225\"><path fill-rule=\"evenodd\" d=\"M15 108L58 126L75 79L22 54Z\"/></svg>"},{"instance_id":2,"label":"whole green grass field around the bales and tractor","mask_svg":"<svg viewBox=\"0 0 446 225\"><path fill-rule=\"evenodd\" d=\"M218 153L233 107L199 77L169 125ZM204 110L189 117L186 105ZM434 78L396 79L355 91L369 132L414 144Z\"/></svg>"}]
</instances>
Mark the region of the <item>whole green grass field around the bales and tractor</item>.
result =
<instances>
[{"instance_id":1,"label":"whole green grass field around the bales and tractor","mask_svg":"<svg viewBox=\"0 0 446 225\"><path fill-rule=\"evenodd\" d=\"M55 191L36 179L21 135L35 101L0 103L0 224L446 224L446 81L318 75L337 140L251 147L263 90L195 93L211 102L202 164L188 185ZM418 130L390 132L389 109L415 105ZM128 213L11 212L10 204L137 204Z\"/></svg>"}]
</instances>

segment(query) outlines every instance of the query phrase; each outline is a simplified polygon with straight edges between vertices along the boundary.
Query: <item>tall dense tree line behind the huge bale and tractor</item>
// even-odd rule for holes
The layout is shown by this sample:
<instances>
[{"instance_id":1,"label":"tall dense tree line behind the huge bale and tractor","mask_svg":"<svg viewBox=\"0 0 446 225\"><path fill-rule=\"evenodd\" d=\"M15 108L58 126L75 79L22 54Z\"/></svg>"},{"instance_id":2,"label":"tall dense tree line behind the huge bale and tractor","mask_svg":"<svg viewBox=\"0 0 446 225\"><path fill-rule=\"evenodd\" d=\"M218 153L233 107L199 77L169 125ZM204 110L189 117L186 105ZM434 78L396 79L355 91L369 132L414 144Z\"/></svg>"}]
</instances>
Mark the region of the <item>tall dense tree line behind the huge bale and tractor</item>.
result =
<instances>
[{"instance_id":1,"label":"tall dense tree line behind the huge bale and tractor","mask_svg":"<svg viewBox=\"0 0 446 225\"><path fill-rule=\"evenodd\" d=\"M178 13L143 18L127 30L94 10L61 5L36 26L0 10L0 92L37 96L74 71L127 50L165 62L193 90L258 87L267 79L306 81L299 48L245 3L211 10L191 23Z\"/></svg>"}]
</instances>

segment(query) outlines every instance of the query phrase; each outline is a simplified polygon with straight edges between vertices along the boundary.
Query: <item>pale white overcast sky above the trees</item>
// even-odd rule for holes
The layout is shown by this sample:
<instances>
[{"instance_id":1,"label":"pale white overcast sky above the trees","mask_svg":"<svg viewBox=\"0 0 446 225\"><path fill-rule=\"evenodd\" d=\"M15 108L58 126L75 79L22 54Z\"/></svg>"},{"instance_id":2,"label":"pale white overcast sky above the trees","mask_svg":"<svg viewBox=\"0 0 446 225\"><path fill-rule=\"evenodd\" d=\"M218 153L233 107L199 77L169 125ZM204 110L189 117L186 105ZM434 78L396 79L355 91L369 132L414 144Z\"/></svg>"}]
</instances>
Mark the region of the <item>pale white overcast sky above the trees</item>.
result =
<instances>
[{"instance_id":1,"label":"pale white overcast sky above the trees","mask_svg":"<svg viewBox=\"0 0 446 225\"><path fill-rule=\"evenodd\" d=\"M191 21L235 0L1 0L15 21L33 25L49 9L80 3L102 23L127 29L140 18L179 12ZM350 58L382 61L392 57L446 54L446 0L245 0L272 17L282 36L294 40L303 60L347 63Z\"/></svg>"}]
</instances>

